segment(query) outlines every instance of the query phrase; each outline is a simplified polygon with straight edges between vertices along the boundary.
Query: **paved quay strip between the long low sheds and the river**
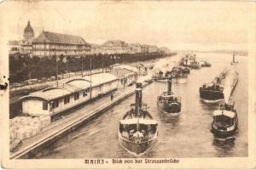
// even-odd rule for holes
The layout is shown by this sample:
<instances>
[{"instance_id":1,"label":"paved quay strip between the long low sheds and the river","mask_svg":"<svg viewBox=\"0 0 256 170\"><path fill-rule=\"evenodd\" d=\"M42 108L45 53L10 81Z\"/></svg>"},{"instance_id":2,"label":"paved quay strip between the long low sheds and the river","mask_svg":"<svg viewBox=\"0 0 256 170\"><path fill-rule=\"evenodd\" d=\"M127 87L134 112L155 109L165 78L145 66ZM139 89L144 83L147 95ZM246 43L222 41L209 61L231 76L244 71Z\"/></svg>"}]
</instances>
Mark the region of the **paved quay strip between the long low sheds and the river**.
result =
<instances>
[{"instance_id":1,"label":"paved quay strip between the long low sheds and the river","mask_svg":"<svg viewBox=\"0 0 256 170\"><path fill-rule=\"evenodd\" d=\"M143 83L143 87L147 85L148 83ZM104 96L101 99L81 106L76 111L69 113L67 116L63 116L55 122L51 122L48 127L44 127L37 135L22 140L19 150L15 153L10 153L10 159L29 158L35 155L47 145L61 139L61 137L67 135L67 133L73 132L85 122L99 116L113 105L117 105L120 101L134 94L134 92L135 85L121 88L115 92L113 101L110 100L109 95Z\"/></svg>"}]
</instances>

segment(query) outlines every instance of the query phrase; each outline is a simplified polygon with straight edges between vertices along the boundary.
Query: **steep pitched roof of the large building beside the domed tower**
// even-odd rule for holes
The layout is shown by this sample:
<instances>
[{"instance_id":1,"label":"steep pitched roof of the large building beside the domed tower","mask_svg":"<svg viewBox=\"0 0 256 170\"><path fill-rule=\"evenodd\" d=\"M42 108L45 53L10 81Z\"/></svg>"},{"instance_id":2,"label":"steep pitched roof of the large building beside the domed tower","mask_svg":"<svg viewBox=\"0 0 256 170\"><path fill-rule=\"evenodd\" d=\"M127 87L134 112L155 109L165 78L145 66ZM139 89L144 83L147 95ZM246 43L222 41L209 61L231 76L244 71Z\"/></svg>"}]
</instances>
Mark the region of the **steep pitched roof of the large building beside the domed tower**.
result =
<instances>
[{"instance_id":1,"label":"steep pitched roof of the large building beside the domed tower","mask_svg":"<svg viewBox=\"0 0 256 170\"><path fill-rule=\"evenodd\" d=\"M33 40L34 43L65 43L65 44L76 44L76 45L89 45L84 41L83 37L72 36L67 34L60 34L55 32L43 31L38 37Z\"/></svg>"}]
</instances>

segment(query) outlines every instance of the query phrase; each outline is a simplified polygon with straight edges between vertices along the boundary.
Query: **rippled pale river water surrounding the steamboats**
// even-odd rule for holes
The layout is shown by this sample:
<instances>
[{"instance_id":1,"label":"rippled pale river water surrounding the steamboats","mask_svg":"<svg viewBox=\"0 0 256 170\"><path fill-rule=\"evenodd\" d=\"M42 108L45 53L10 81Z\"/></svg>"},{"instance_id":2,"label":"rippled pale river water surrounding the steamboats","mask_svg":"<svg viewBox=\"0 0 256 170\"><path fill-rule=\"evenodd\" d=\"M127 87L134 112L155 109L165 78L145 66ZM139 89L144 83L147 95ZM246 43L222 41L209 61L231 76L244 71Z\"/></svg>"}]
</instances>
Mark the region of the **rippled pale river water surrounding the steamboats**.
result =
<instances>
[{"instance_id":1,"label":"rippled pale river water surrounding the steamboats","mask_svg":"<svg viewBox=\"0 0 256 170\"><path fill-rule=\"evenodd\" d=\"M175 59L175 57L173 57ZM199 88L210 82L224 69L230 67L231 54L197 54L197 59L206 59L212 67L192 70L183 81L173 83L172 91L182 98L182 113L175 118L157 110L156 97L166 90L166 83L154 82L143 88L143 103L159 122L159 137L154 147L143 157L219 157L247 156L247 57L237 56L233 65L239 72L239 82L231 96L238 112L239 128L229 139L215 138L211 130L212 111L218 105L204 104L199 98ZM128 111L135 96L125 99L102 116L68 134L49 148L38 153L37 158L118 158L133 157L119 146L118 120Z\"/></svg>"}]
</instances>

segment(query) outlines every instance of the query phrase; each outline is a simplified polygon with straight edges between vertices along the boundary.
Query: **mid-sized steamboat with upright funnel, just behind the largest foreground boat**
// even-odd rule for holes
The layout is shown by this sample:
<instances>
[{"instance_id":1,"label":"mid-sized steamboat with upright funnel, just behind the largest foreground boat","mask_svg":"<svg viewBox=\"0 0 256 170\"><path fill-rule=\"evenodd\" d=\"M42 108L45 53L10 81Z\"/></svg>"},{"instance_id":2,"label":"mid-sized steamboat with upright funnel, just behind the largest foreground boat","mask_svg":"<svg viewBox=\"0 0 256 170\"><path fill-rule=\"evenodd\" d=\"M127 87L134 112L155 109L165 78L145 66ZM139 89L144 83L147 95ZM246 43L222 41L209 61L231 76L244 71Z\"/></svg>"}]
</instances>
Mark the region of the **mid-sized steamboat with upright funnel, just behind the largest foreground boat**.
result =
<instances>
[{"instance_id":1,"label":"mid-sized steamboat with upright funnel, just behind the largest foreground boat","mask_svg":"<svg viewBox=\"0 0 256 170\"><path fill-rule=\"evenodd\" d=\"M157 106L165 114L179 115L181 111L181 99L172 93L172 77L167 81L167 92L157 97Z\"/></svg>"}]
</instances>

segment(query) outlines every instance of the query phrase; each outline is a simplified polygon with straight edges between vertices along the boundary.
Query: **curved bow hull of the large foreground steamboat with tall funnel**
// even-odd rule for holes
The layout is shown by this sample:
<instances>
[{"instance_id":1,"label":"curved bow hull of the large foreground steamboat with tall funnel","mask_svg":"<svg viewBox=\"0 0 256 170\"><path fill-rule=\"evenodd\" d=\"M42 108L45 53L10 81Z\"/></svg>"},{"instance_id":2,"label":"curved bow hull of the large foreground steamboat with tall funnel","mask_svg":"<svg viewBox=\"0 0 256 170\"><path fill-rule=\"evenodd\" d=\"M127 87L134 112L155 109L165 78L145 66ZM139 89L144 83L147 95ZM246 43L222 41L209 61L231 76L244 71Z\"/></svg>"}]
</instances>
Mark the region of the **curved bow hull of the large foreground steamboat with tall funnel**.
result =
<instances>
[{"instance_id":1,"label":"curved bow hull of the large foreground steamboat with tall funnel","mask_svg":"<svg viewBox=\"0 0 256 170\"><path fill-rule=\"evenodd\" d=\"M143 154L145 154L146 151L154 145L156 139L157 131L156 133L154 133L154 136L151 139L148 139L147 141L143 141L141 143L135 143L131 140L125 139L119 133L119 144L134 156L143 156Z\"/></svg>"}]
</instances>

